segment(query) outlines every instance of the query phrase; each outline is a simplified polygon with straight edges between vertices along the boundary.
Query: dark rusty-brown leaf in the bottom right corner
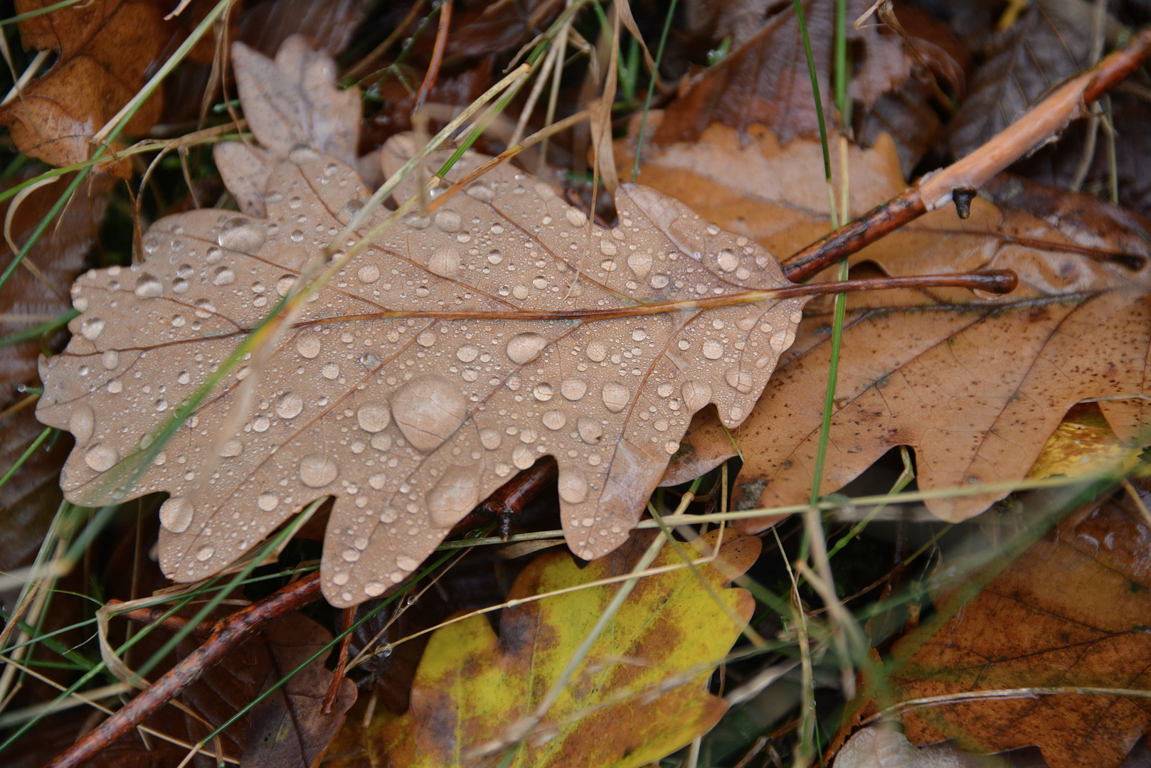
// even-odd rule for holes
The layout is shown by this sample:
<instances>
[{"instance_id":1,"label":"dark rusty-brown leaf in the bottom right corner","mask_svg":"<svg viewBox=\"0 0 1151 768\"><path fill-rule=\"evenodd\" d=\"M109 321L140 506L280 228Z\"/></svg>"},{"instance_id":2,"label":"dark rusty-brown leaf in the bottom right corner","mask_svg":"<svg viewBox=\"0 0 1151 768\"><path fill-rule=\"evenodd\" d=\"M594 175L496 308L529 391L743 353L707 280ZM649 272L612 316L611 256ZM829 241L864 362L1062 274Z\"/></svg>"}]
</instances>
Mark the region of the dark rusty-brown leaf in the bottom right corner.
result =
<instances>
[{"instance_id":1,"label":"dark rusty-brown leaf in the bottom right corner","mask_svg":"<svg viewBox=\"0 0 1151 768\"><path fill-rule=\"evenodd\" d=\"M1073 515L910 657L894 646L906 662L891 680L895 700L1029 687L1146 690L1149 547L1148 523L1127 496ZM1036 745L1052 768L1114 768L1151 729L1151 701L1068 693L937 702L905 713L904 724L915 744L950 737L978 752Z\"/></svg>"}]
</instances>

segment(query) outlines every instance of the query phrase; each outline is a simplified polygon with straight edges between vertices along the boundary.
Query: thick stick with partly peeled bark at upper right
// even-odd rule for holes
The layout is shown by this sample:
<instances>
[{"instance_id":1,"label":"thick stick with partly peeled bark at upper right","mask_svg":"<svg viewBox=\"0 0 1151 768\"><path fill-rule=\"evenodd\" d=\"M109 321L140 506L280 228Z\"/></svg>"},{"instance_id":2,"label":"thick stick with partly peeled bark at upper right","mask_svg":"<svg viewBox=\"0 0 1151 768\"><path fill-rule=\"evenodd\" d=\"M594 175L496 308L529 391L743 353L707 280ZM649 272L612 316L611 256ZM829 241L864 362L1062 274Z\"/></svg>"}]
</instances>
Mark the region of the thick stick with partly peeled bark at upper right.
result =
<instances>
[{"instance_id":1,"label":"thick stick with partly peeled bark at upper right","mask_svg":"<svg viewBox=\"0 0 1151 768\"><path fill-rule=\"evenodd\" d=\"M871 208L784 263L793 282L802 282L839 259L881 239L928 211L946 205L954 189L978 188L997 173L1044 144L1091 104L1129 76L1151 54L1151 28L1131 36L1092 69L1078 75L1035 105L990 142L962 160L929 174L918 185Z\"/></svg>"}]
</instances>

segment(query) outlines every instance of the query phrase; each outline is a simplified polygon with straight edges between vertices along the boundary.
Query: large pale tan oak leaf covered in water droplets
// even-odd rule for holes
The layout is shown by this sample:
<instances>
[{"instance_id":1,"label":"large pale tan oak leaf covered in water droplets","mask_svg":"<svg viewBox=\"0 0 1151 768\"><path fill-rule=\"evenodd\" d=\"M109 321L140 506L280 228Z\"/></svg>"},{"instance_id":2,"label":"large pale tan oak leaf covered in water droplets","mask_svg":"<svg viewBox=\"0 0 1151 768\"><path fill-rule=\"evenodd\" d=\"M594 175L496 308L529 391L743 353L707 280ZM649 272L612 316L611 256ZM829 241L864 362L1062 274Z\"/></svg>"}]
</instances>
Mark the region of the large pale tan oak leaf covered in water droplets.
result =
<instances>
[{"instance_id":1,"label":"large pale tan oak leaf covered in water droplets","mask_svg":"<svg viewBox=\"0 0 1151 768\"><path fill-rule=\"evenodd\" d=\"M394 138L386 164L411 151L410 137ZM290 157L269 177L266 221L169 216L144 237L140 264L77 281L83 314L66 352L43 366L37 411L77 436L61 476L69 499L110 500L120 472L105 473L363 205L351 168L312 150ZM448 181L482 160L465 154ZM131 488L171 494L165 572L219 572L334 494L323 590L356 604L404 580L472 507L544 455L559 464L572 549L594 558L619 546L692 413L714 402L734 426L750 411L806 299L721 306L791 283L764 249L654 190L620 187L616 203L619 227L592 227L586 253L584 213L500 167L434 221L410 215L384 233L305 305L261 372L253 412L219 441L212 477L199 470L246 367ZM633 317L640 302L670 304Z\"/></svg>"}]
</instances>

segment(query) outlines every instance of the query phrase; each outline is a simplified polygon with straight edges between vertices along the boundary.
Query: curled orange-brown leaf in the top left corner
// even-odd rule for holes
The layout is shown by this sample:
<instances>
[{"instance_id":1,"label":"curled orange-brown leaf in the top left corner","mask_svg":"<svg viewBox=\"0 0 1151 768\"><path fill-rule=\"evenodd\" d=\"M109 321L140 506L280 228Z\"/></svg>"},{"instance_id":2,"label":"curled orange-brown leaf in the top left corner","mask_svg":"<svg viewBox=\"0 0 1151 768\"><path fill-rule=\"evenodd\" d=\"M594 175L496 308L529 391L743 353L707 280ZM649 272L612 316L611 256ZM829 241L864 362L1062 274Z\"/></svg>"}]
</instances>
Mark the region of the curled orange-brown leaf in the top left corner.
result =
<instances>
[{"instance_id":1,"label":"curled orange-brown leaf in the top left corner","mask_svg":"<svg viewBox=\"0 0 1151 768\"><path fill-rule=\"evenodd\" d=\"M16 13L38 10L51 0L16 0ZM163 0L92 0L20 23L25 48L56 51L52 69L0 109L20 151L53 166L86 160L89 139L136 96L151 67L188 33L188 15L163 21ZM124 134L139 136L160 117L158 94L128 121Z\"/></svg>"}]
</instances>

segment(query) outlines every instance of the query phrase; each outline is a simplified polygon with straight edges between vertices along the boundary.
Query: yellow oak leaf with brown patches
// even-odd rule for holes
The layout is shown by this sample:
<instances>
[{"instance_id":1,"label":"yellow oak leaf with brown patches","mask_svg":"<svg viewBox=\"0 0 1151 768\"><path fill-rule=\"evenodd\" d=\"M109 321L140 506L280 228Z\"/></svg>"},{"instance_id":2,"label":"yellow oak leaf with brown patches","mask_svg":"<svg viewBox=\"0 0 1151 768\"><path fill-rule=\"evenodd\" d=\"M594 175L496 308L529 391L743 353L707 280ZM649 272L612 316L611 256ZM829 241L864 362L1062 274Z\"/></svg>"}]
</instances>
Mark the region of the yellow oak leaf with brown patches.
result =
<instances>
[{"instance_id":1,"label":"yellow oak leaf with brown patches","mask_svg":"<svg viewBox=\"0 0 1151 768\"><path fill-rule=\"evenodd\" d=\"M641 534L580 569L566 553L533 561L509 599L570 588L627 573L651 541ZM698 553L710 554L717 532ZM693 546L686 545L693 553ZM704 579L744 621L748 592L723 588L760 554L754 537L727 531L719 560L701 565ZM671 547L653 568L680 563ZM483 616L437 630L428 644L403 716L358 721L333 744L338 768L466 766L468 755L531 714L616 594L615 585L505 608L500 634ZM572 683L516 752L512 766L625 768L658 760L707 732L726 710L708 693L711 667L739 637L691 570L639 580L577 669Z\"/></svg>"}]
</instances>

